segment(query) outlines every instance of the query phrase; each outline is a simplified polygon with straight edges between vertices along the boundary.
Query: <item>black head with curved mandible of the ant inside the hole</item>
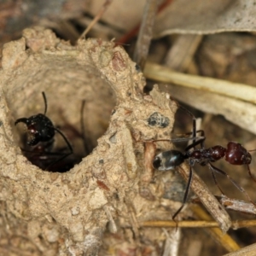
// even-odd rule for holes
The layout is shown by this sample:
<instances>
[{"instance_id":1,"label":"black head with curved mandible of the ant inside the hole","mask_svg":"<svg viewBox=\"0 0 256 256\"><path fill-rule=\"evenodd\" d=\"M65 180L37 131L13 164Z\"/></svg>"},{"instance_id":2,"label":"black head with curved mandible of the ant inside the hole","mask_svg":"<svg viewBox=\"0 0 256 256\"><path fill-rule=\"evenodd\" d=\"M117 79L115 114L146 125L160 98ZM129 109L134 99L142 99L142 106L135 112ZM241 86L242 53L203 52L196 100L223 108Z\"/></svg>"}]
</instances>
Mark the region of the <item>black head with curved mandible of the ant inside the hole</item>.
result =
<instances>
[{"instance_id":1,"label":"black head with curved mandible of the ant inside the hole","mask_svg":"<svg viewBox=\"0 0 256 256\"><path fill-rule=\"evenodd\" d=\"M54 125L43 113L32 115L28 119L17 119L15 125L18 123L24 123L29 136L32 137L32 139L27 142L29 146L35 146L39 142L49 142L55 136Z\"/></svg>"}]
</instances>

